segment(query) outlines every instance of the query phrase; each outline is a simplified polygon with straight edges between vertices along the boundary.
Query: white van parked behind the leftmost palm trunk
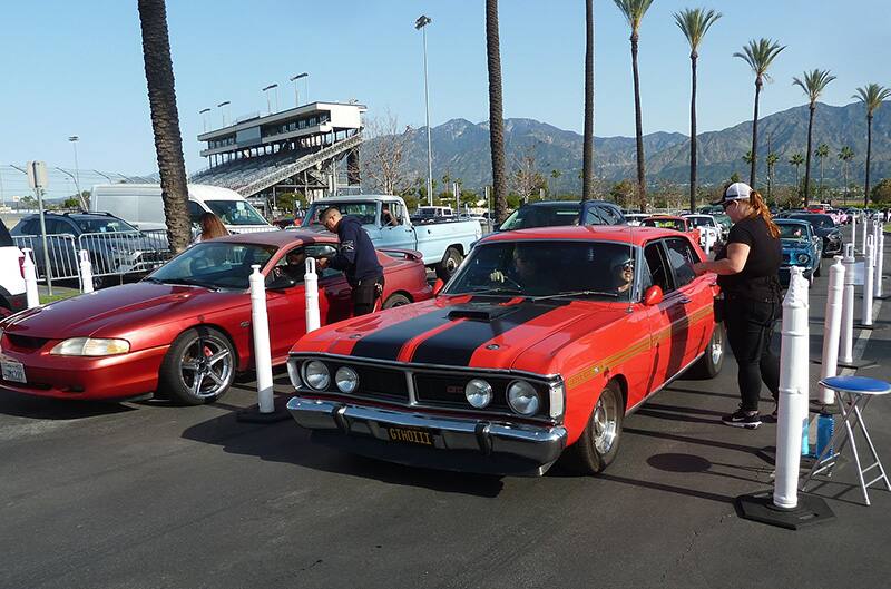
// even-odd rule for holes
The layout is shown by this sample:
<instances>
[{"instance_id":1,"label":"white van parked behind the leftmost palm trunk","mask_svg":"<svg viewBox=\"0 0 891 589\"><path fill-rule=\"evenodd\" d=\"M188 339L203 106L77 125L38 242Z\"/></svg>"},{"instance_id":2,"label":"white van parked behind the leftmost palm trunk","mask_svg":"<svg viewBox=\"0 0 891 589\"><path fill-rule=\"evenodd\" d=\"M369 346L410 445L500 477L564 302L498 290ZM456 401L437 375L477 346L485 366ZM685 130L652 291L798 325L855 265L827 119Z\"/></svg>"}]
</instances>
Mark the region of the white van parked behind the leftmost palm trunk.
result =
<instances>
[{"instance_id":1,"label":"white van parked behind the leftmost palm trunk","mask_svg":"<svg viewBox=\"0 0 891 589\"><path fill-rule=\"evenodd\" d=\"M97 184L90 194L90 210L111 213L144 230L167 228L159 184ZM192 223L197 224L205 213L216 214L229 233L278 229L235 190L189 184L188 214Z\"/></svg>"}]
</instances>

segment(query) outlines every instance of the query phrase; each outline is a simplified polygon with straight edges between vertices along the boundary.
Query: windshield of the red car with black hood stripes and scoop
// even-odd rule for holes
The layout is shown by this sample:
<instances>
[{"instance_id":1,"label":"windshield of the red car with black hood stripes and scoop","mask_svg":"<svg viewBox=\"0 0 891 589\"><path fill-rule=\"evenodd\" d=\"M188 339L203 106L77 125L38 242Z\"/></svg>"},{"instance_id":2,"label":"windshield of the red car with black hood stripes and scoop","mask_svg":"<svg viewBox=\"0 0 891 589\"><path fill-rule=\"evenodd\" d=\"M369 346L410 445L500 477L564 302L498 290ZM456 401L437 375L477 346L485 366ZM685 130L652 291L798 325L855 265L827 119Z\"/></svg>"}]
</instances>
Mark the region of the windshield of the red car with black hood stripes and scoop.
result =
<instances>
[{"instance_id":1,"label":"windshield of the red car with black hood stripes and scoop","mask_svg":"<svg viewBox=\"0 0 891 589\"><path fill-rule=\"evenodd\" d=\"M631 252L605 242L483 244L473 248L444 293L628 301L635 284Z\"/></svg>"}]
</instances>

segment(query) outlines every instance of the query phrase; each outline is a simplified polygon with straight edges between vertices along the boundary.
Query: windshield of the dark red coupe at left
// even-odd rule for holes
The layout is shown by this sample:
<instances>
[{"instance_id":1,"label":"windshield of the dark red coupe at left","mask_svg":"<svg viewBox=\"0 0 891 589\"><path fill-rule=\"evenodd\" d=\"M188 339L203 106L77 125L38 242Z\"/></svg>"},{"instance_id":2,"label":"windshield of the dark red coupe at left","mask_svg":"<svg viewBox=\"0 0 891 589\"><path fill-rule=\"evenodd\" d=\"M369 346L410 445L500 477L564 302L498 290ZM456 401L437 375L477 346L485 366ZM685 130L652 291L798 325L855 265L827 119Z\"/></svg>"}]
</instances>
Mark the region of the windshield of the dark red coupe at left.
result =
<instances>
[{"instance_id":1,"label":"windshield of the dark red coupe at left","mask_svg":"<svg viewBox=\"0 0 891 589\"><path fill-rule=\"evenodd\" d=\"M148 276L165 284L187 284L208 288L248 287L252 264L261 269L275 254L272 245L205 242L196 244Z\"/></svg>"}]
</instances>

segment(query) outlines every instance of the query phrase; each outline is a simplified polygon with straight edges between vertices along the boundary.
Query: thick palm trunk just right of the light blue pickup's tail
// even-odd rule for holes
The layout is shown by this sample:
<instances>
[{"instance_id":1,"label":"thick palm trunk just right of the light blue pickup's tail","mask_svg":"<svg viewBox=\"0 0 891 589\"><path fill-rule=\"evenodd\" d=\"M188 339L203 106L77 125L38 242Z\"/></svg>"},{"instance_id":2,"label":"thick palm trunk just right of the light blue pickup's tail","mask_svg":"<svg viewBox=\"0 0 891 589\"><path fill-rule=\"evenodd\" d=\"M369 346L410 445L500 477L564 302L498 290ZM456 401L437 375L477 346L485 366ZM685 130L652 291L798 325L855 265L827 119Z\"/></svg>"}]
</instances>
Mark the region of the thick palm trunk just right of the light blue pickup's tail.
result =
<instances>
[{"instance_id":1,"label":"thick palm trunk just right of the light blue pickup's tail","mask_svg":"<svg viewBox=\"0 0 891 589\"><path fill-rule=\"evenodd\" d=\"M505 176L505 118L501 107L501 50L498 40L498 0L486 0L486 58L489 65L489 145L492 151L495 218L508 216Z\"/></svg>"}]
</instances>

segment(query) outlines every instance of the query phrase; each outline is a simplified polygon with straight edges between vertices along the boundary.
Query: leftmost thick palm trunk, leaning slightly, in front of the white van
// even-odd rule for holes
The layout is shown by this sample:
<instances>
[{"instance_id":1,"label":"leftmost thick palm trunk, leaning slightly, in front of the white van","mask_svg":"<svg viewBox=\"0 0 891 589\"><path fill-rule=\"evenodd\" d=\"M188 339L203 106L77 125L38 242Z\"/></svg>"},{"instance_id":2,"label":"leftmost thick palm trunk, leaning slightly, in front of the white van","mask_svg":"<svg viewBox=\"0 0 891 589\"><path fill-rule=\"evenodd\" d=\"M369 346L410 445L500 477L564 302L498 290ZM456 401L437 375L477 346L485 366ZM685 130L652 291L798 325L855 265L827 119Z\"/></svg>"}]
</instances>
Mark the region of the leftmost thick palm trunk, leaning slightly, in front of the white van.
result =
<instances>
[{"instance_id":1,"label":"leftmost thick palm trunk, leaning slightly, in front of the white van","mask_svg":"<svg viewBox=\"0 0 891 589\"><path fill-rule=\"evenodd\" d=\"M176 108L170 40L167 35L167 8L164 0L138 0L138 9L167 240L170 251L178 254L188 247L192 224L188 216L186 165L183 160L179 112Z\"/></svg>"}]
</instances>

